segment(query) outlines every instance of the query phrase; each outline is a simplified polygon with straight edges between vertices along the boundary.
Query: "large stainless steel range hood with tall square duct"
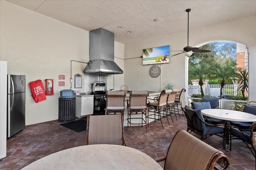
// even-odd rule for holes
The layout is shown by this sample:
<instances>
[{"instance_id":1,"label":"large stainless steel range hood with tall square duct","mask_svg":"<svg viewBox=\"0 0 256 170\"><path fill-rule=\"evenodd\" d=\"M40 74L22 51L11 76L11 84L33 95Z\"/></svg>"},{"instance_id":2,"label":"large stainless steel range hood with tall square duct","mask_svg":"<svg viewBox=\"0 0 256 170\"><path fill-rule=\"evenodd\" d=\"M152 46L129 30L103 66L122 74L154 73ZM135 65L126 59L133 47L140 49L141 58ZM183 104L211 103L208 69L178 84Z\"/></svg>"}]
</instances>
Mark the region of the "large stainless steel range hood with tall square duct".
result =
<instances>
[{"instance_id":1,"label":"large stainless steel range hood with tall square duct","mask_svg":"<svg viewBox=\"0 0 256 170\"><path fill-rule=\"evenodd\" d=\"M84 73L99 75L124 73L114 62L114 33L103 28L89 32L89 61Z\"/></svg>"}]
</instances>

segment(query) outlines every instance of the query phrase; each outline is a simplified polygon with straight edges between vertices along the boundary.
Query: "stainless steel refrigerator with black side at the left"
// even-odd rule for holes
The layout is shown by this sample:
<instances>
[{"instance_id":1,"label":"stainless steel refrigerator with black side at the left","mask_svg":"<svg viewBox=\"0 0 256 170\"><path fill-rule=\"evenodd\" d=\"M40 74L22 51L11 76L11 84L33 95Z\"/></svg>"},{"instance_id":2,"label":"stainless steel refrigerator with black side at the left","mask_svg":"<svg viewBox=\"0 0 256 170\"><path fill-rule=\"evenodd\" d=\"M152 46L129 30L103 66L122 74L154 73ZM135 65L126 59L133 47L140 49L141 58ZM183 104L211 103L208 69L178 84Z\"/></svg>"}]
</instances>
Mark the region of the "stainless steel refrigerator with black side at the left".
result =
<instances>
[{"instance_id":1,"label":"stainless steel refrigerator with black side at the left","mask_svg":"<svg viewBox=\"0 0 256 170\"><path fill-rule=\"evenodd\" d=\"M10 75L7 78L7 137L25 129L26 76Z\"/></svg>"}]
</instances>

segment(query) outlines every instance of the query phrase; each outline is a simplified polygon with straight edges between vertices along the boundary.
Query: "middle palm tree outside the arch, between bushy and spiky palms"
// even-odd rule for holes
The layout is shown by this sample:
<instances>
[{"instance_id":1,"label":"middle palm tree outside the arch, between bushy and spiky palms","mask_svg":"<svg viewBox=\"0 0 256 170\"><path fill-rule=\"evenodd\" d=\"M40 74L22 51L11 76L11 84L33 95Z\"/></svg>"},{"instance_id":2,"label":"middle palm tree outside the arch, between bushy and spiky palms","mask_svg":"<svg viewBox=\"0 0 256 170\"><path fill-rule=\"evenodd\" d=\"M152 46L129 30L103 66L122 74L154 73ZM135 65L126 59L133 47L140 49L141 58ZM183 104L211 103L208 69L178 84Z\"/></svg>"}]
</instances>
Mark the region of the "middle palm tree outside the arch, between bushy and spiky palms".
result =
<instances>
[{"instance_id":1,"label":"middle palm tree outside the arch, between bushy and spiky palms","mask_svg":"<svg viewBox=\"0 0 256 170\"><path fill-rule=\"evenodd\" d=\"M228 80L236 74L236 63L230 60L224 60L215 66L215 76L220 78L220 96L222 96L222 89L225 86L225 80Z\"/></svg>"}]
</instances>

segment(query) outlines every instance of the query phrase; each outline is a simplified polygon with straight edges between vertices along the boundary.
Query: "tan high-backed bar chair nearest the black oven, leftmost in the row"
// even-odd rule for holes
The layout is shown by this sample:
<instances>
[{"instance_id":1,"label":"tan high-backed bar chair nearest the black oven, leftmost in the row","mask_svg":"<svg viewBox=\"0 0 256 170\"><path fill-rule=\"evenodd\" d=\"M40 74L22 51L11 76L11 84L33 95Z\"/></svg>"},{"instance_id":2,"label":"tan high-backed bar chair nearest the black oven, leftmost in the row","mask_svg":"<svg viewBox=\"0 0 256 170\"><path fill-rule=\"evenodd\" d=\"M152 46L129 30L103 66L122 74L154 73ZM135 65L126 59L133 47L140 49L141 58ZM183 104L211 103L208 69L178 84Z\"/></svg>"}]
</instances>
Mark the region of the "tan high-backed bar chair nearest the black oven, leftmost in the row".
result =
<instances>
[{"instance_id":1,"label":"tan high-backed bar chair nearest the black oven, leftmost in the row","mask_svg":"<svg viewBox=\"0 0 256 170\"><path fill-rule=\"evenodd\" d=\"M124 116L124 91L107 91L106 92L106 115L110 113L121 113Z\"/></svg>"}]
</instances>

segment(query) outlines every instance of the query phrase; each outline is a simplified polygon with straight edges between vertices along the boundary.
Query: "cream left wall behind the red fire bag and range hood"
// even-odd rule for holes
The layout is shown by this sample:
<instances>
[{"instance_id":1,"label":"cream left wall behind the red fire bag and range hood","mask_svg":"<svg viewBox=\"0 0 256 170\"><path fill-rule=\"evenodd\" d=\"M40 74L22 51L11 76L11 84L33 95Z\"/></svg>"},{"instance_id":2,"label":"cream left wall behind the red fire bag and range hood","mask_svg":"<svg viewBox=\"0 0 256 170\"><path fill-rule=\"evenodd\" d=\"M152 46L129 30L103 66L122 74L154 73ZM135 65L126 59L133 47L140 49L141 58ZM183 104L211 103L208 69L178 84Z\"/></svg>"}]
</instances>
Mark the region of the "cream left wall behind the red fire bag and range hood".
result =
<instances>
[{"instance_id":1,"label":"cream left wall behind the red fire bag and range hood","mask_svg":"<svg viewBox=\"0 0 256 170\"><path fill-rule=\"evenodd\" d=\"M124 45L115 42L114 55L124 69ZM74 88L74 75L84 75L86 64L71 60L89 61L89 32L1 0L0 59L8 61L8 74L26 75L26 125L56 120L60 91L71 87L71 65L72 90L84 92L84 80L82 88ZM58 80L62 74L65 80ZM54 95L36 104L28 84L38 79L54 79ZM115 83L124 84L124 74L115 76Z\"/></svg>"}]
</instances>

